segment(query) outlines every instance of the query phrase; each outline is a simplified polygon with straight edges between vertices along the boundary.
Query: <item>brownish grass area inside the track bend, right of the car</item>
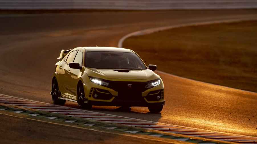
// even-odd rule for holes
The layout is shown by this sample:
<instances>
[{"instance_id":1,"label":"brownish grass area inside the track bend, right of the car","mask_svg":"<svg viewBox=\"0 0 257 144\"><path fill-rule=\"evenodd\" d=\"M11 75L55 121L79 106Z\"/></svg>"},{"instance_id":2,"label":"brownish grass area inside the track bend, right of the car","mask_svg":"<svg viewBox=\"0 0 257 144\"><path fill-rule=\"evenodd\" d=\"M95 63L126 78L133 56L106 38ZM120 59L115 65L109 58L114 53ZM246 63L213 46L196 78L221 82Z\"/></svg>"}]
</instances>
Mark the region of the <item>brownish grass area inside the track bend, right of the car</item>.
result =
<instances>
[{"instance_id":1,"label":"brownish grass area inside the track bend, right of the car","mask_svg":"<svg viewBox=\"0 0 257 144\"><path fill-rule=\"evenodd\" d=\"M257 92L257 21L188 26L126 39L158 70Z\"/></svg>"}]
</instances>

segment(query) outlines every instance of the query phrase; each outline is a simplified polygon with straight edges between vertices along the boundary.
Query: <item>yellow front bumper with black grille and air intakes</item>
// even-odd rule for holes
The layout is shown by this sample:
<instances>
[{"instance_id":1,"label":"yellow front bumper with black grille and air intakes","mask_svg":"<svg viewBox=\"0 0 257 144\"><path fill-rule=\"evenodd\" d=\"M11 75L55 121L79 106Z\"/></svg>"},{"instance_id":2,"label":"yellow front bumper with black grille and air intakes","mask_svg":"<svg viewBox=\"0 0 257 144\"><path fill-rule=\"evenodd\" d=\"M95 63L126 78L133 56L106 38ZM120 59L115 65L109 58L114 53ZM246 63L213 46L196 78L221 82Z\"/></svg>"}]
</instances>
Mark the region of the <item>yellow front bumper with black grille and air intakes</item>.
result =
<instances>
[{"instance_id":1,"label":"yellow front bumper with black grille and air intakes","mask_svg":"<svg viewBox=\"0 0 257 144\"><path fill-rule=\"evenodd\" d=\"M128 82L130 83L130 82ZM150 105L164 105L164 86L161 84L146 89L143 92L137 91L115 91L114 89L102 85L88 82L84 85L85 96L93 105L105 106L130 106L130 107L147 107ZM97 97L95 97L97 94ZM157 96L160 97L157 99Z\"/></svg>"}]
</instances>

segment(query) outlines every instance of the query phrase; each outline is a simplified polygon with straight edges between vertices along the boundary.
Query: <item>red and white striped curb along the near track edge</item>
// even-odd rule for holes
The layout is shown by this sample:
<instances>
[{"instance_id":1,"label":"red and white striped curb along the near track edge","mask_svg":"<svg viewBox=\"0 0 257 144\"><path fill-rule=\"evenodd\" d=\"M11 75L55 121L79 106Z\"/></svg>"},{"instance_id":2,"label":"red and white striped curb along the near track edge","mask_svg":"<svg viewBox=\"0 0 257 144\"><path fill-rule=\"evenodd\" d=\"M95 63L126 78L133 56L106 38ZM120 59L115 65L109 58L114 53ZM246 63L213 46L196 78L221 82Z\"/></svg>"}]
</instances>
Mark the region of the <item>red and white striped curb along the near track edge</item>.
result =
<instances>
[{"instance_id":1,"label":"red and white striped curb along the near track edge","mask_svg":"<svg viewBox=\"0 0 257 144\"><path fill-rule=\"evenodd\" d=\"M38 101L32 101L28 99L12 97L12 96L3 95L3 94L0 94L0 103L32 108L35 110L59 113L67 116L74 116L74 117L85 118L90 120L97 120L102 122L111 122L111 123L122 124L127 126L134 126L134 127L145 128L149 130L159 130L163 132L177 133L177 134L183 134L183 135L190 135L194 137L203 137L208 139L230 141L230 142L236 142L236 143L257 143L257 137L250 137L250 136L236 135L236 134L222 133L222 132L213 132L213 131L207 131L207 130L200 130L196 128L188 128L188 127L176 126L171 124L163 124L159 122L139 120L135 118L127 118L123 116L93 112L90 110L82 110L77 108L70 108L70 107L65 107L60 105L49 104L49 103L42 103ZM15 111L15 112L21 113L23 111ZM47 118L55 119L58 117L47 117ZM75 121L76 120L67 121L67 122L75 122ZM115 129L115 127L109 127L109 129L112 129L112 128ZM138 131L131 131L130 133L137 133L137 132ZM160 137L162 135L154 135L154 136Z\"/></svg>"}]
</instances>

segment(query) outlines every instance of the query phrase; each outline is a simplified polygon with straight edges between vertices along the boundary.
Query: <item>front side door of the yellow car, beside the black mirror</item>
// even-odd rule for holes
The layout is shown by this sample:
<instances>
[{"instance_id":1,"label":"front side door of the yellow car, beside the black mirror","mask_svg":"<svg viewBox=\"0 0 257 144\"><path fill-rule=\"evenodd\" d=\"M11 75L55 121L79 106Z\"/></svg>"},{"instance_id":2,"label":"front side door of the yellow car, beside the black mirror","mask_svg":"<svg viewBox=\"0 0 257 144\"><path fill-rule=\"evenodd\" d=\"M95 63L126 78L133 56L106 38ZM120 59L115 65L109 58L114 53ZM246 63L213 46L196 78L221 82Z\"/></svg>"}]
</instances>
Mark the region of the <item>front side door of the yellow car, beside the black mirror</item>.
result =
<instances>
[{"instance_id":1,"label":"front side door of the yellow car, beside the black mirror","mask_svg":"<svg viewBox=\"0 0 257 144\"><path fill-rule=\"evenodd\" d=\"M73 62L79 63L80 66L83 64L83 53L78 51ZM70 90L71 94L77 96L77 82L78 76L81 74L80 69L70 68ZM77 97L76 97L77 98Z\"/></svg>"}]
</instances>

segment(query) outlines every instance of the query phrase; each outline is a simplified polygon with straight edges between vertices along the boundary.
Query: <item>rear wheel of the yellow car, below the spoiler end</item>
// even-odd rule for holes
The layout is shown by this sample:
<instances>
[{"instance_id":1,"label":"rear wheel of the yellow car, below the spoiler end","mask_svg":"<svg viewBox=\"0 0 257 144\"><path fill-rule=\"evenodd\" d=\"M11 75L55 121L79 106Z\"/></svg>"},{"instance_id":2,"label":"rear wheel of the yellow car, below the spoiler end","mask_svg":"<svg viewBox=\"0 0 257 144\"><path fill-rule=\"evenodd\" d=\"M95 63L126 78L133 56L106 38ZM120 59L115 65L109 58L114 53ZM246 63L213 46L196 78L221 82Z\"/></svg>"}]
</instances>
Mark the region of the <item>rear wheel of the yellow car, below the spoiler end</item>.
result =
<instances>
[{"instance_id":1,"label":"rear wheel of the yellow car, below the spoiler end","mask_svg":"<svg viewBox=\"0 0 257 144\"><path fill-rule=\"evenodd\" d=\"M58 82L56 78L53 78L52 80L52 101L54 104L57 105L64 105L66 103L66 100L58 99L58 97L61 97L61 93L59 91Z\"/></svg>"}]
</instances>

